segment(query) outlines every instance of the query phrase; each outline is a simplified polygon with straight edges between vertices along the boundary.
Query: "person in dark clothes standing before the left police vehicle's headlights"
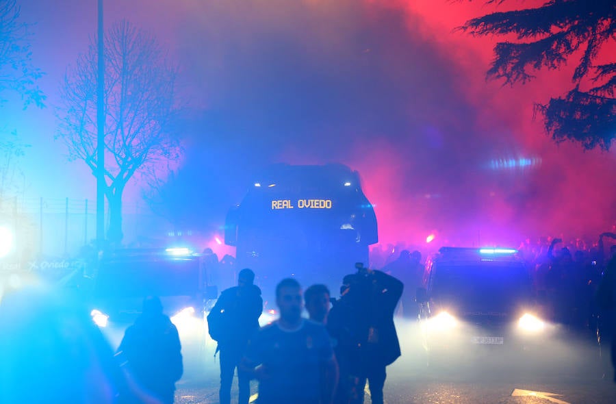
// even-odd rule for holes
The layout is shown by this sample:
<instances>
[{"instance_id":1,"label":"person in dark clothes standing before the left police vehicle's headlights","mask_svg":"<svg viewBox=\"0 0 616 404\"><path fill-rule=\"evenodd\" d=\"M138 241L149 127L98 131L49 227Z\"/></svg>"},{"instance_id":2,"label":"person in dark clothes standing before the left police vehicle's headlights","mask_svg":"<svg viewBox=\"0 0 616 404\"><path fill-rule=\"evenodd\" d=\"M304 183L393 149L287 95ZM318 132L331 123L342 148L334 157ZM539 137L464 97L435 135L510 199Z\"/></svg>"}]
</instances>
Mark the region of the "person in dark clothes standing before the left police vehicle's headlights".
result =
<instances>
[{"instance_id":1,"label":"person in dark clothes standing before the left police vehicle's headlights","mask_svg":"<svg viewBox=\"0 0 616 404\"><path fill-rule=\"evenodd\" d=\"M181 344L158 297L144 299L142 314L126 329L116 355L140 390L161 403L173 403L175 382L183 373ZM122 401L141 402L137 394L127 394Z\"/></svg>"}]
</instances>

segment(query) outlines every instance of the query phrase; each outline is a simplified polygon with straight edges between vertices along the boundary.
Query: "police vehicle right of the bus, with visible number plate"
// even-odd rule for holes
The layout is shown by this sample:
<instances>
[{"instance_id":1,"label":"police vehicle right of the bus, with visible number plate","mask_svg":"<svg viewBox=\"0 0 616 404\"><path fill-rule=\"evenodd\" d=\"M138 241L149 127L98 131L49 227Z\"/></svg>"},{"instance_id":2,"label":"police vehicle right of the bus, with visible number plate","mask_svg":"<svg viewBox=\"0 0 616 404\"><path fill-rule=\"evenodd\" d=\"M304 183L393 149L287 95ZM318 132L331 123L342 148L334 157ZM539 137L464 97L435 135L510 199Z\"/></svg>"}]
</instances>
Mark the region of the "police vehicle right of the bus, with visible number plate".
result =
<instances>
[{"instance_id":1,"label":"police vehicle right of the bus, with visible number plate","mask_svg":"<svg viewBox=\"0 0 616 404\"><path fill-rule=\"evenodd\" d=\"M526 350L547 338L530 275L515 249L441 248L426 262L422 282L417 301L429 353Z\"/></svg>"}]
</instances>

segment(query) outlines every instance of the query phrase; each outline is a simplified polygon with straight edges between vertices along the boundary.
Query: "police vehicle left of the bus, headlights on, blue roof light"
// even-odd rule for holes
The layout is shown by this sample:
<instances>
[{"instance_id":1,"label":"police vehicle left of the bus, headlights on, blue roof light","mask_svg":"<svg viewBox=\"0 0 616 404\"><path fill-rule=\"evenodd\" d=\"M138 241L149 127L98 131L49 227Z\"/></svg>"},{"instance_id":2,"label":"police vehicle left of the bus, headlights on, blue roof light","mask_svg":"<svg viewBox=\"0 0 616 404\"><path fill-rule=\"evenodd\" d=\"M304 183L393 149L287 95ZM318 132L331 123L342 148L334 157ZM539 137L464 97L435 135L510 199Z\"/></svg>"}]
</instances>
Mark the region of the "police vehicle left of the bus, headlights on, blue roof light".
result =
<instances>
[{"instance_id":1,"label":"police vehicle left of the bus, headlights on, blue roof light","mask_svg":"<svg viewBox=\"0 0 616 404\"><path fill-rule=\"evenodd\" d=\"M146 296L159 296L178 331L203 326L216 288L207 284L201 255L190 249L118 249L105 255L93 276L90 305L99 327L124 329L141 314Z\"/></svg>"}]
</instances>

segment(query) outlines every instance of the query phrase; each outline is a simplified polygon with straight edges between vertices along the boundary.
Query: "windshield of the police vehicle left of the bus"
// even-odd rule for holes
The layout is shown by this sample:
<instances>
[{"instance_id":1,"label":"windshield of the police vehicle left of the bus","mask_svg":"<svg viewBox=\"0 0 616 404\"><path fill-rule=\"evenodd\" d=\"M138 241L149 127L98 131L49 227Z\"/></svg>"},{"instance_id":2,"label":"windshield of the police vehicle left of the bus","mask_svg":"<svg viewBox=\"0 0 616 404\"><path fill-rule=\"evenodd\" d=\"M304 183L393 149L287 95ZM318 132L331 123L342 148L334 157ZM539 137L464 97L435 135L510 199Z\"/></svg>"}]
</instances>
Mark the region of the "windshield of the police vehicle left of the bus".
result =
<instances>
[{"instance_id":1,"label":"windshield of the police vehicle left of the bus","mask_svg":"<svg viewBox=\"0 0 616 404\"><path fill-rule=\"evenodd\" d=\"M97 274L98 297L192 296L198 292L197 260L107 262Z\"/></svg>"}]
</instances>

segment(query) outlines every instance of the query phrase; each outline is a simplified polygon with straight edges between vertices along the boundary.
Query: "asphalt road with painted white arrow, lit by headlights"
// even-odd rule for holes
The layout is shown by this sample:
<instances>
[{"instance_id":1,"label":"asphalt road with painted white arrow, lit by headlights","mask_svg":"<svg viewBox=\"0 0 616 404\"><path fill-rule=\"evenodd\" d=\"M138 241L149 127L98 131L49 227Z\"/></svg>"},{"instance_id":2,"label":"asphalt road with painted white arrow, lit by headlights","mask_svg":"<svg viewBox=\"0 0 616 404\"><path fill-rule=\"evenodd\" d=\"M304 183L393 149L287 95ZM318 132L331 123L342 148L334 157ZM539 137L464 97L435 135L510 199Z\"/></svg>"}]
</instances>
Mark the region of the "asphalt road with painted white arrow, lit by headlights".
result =
<instances>
[{"instance_id":1,"label":"asphalt road with painted white arrow, lit by headlights","mask_svg":"<svg viewBox=\"0 0 616 404\"><path fill-rule=\"evenodd\" d=\"M398 333L402 357L387 368L389 404L616 403L611 365L605 355L602 363L591 338L554 338L524 352L457 347L428 359L413 327L398 324ZM218 403L218 359L205 355L200 371L189 365L178 383L177 403ZM251 392L257 392L255 382ZM237 400L235 385L233 396ZM369 394L365 402L370 403Z\"/></svg>"}]
</instances>

